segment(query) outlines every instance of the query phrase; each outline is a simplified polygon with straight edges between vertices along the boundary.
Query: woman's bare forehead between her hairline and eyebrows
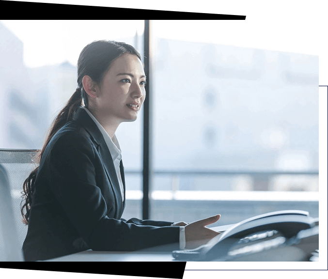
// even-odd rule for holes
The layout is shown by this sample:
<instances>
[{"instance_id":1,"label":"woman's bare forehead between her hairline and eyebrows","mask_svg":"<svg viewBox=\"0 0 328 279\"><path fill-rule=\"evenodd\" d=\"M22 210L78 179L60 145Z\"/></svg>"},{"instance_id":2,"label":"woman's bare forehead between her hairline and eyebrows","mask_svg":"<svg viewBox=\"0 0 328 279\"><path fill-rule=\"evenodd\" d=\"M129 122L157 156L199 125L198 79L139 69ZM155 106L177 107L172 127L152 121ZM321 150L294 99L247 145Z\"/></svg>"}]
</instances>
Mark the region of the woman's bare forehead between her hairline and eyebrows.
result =
<instances>
[{"instance_id":1,"label":"woman's bare forehead between her hairline and eyebrows","mask_svg":"<svg viewBox=\"0 0 328 279\"><path fill-rule=\"evenodd\" d=\"M109 68L111 74L131 73L137 76L144 75L144 70L139 58L133 54L123 54L111 64Z\"/></svg>"}]
</instances>

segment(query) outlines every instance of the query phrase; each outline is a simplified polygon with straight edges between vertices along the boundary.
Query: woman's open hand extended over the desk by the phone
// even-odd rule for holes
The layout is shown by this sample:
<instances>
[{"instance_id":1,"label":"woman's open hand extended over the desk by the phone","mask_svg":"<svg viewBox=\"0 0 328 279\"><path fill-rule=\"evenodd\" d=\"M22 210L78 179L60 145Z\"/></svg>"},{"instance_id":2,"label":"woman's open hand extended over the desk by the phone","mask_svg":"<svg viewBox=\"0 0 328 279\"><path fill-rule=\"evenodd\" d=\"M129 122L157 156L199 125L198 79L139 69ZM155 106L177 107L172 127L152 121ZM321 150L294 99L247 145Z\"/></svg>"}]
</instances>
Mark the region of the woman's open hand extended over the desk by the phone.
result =
<instances>
[{"instance_id":1,"label":"woman's open hand extended over the desk by the phone","mask_svg":"<svg viewBox=\"0 0 328 279\"><path fill-rule=\"evenodd\" d=\"M205 226L215 223L219 220L221 215L215 215L205 219L201 219L185 226L186 235L186 249L194 249L201 245L206 244L213 237L217 236L219 233L213 231Z\"/></svg>"}]
</instances>

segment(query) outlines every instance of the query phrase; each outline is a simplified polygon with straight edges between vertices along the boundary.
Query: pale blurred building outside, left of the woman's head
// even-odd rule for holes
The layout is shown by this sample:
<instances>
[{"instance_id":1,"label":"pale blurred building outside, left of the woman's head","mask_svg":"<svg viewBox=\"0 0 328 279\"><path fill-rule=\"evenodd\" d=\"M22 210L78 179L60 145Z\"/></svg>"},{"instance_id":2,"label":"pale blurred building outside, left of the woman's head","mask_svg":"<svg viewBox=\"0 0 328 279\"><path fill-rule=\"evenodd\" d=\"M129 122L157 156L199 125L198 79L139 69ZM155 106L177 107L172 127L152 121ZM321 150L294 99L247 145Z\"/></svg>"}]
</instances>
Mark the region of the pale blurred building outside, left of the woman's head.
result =
<instances>
[{"instance_id":1,"label":"pale blurred building outside, left of the woman's head","mask_svg":"<svg viewBox=\"0 0 328 279\"><path fill-rule=\"evenodd\" d=\"M23 43L0 22L0 147L40 149L47 129L74 93L76 67L27 68Z\"/></svg>"}]
</instances>

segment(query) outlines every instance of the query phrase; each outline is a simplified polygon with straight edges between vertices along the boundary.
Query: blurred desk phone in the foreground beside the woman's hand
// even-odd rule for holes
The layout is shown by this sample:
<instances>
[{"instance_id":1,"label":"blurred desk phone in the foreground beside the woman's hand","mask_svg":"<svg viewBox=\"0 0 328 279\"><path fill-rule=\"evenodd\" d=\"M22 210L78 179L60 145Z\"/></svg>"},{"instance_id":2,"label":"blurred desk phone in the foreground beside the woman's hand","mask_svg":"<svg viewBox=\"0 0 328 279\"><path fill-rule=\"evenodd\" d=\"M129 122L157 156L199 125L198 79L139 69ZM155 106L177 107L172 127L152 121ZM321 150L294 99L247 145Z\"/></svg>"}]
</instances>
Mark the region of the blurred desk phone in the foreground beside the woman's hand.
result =
<instances>
[{"instance_id":1,"label":"blurred desk phone in the foreground beside the woman's hand","mask_svg":"<svg viewBox=\"0 0 328 279\"><path fill-rule=\"evenodd\" d=\"M318 249L319 218L283 210L243 220L206 245L172 256L185 261L312 261Z\"/></svg>"}]
</instances>

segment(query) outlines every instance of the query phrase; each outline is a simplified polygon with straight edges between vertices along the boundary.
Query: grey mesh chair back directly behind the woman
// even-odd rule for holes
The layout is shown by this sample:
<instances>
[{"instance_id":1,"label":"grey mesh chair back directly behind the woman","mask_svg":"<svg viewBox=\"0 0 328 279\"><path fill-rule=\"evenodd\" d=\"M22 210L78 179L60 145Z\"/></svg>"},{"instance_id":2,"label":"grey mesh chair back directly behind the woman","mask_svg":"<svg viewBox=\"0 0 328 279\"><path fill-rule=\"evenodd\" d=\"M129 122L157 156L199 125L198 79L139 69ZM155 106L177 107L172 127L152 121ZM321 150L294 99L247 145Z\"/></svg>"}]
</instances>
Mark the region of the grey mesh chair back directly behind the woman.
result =
<instances>
[{"instance_id":1,"label":"grey mesh chair back directly behind the woman","mask_svg":"<svg viewBox=\"0 0 328 279\"><path fill-rule=\"evenodd\" d=\"M12 150L12 149L0 149L0 166L4 169L8 176L9 191L11 197L11 203L13 206L13 214L16 224L16 231L18 236L19 248L22 248L25 240L28 226L22 222L22 215L20 213L21 192L23 191L23 183L25 179L30 175L38 164L35 163L34 158L38 150ZM3 211L1 210L1 216ZM7 212L5 211L5 214ZM6 255L3 253L5 247L3 235L3 226L0 224L0 261L6 261Z\"/></svg>"}]
</instances>

